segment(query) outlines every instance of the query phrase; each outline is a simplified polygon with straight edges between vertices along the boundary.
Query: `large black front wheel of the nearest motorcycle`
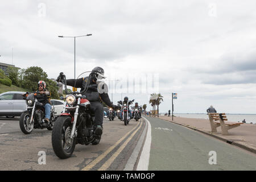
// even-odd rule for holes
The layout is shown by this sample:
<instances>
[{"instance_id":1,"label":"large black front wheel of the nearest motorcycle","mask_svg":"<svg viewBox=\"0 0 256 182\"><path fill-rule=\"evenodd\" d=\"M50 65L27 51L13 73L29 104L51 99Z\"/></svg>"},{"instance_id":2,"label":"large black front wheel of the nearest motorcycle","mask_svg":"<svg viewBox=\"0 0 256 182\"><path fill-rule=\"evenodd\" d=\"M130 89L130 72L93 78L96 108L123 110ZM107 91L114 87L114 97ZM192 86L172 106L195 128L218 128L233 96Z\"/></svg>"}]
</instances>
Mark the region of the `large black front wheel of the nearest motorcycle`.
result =
<instances>
[{"instance_id":1,"label":"large black front wheel of the nearest motorcycle","mask_svg":"<svg viewBox=\"0 0 256 182\"><path fill-rule=\"evenodd\" d=\"M52 147L60 159L67 159L75 150L76 138L71 138L71 117L59 117L52 129Z\"/></svg>"}]
</instances>

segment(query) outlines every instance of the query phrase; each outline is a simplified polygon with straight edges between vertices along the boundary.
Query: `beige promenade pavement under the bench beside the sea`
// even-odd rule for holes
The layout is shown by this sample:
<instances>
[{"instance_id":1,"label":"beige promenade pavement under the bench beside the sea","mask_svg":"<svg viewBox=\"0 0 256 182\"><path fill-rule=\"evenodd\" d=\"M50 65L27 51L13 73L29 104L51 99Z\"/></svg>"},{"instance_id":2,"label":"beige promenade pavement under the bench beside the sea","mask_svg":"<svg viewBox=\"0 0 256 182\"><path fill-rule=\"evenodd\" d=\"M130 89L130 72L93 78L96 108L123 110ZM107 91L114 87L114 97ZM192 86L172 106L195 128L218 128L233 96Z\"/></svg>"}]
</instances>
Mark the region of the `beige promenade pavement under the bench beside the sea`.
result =
<instances>
[{"instance_id":1,"label":"beige promenade pavement under the bench beside the sea","mask_svg":"<svg viewBox=\"0 0 256 182\"><path fill-rule=\"evenodd\" d=\"M243 123L228 130L229 135L222 135L221 127L217 127L217 133L211 132L209 119L174 117L172 121L172 117L159 116L159 118L200 131L256 154L256 125L254 124Z\"/></svg>"}]
</instances>

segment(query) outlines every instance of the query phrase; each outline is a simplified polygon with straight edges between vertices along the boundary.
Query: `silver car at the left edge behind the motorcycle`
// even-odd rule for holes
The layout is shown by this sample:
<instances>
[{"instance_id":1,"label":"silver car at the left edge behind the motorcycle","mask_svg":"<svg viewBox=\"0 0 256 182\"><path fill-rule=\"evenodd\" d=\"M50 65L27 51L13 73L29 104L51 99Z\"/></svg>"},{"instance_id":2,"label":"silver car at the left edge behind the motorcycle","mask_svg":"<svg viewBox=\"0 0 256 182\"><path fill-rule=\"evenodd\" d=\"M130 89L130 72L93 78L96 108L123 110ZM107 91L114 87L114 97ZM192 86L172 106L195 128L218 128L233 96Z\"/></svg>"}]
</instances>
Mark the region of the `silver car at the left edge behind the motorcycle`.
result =
<instances>
[{"instance_id":1,"label":"silver car at the left edge behind the motorcycle","mask_svg":"<svg viewBox=\"0 0 256 182\"><path fill-rule=\"evenodd\" d=\"M0 94L0 116L14 118L26 110L27 104L22 94L25 92L10 91Z\"/></svg>"}]
</instances>

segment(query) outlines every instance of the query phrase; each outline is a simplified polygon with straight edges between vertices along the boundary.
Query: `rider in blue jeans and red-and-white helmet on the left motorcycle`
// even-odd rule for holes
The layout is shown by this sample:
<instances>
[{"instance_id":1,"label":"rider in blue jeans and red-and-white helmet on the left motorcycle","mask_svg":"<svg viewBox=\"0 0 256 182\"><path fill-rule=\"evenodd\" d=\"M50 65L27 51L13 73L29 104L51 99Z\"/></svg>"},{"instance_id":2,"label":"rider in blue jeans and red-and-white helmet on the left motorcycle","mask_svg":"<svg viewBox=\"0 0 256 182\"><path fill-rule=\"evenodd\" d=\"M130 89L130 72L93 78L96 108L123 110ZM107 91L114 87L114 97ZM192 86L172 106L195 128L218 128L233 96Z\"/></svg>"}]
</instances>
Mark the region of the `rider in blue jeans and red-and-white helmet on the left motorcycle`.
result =
<instances>
[{"instance_id":1,"label":"rider in blue jeans and red-and-white helmet on the left motorcycle","mask_svg":"<svg viewBox=\"0 0 256 182\"><path fill-rule=\"evenodd\" d=\"M40 94L36 95L38 102L41 102L44 105L44 109L46 110L46 118L44 121L47 121L49 124L49 119L51 117L51 92L46 89L46 82L39 81L38 82L38 90L36 92L40 92Z\"/></svg>"}]
</instances>

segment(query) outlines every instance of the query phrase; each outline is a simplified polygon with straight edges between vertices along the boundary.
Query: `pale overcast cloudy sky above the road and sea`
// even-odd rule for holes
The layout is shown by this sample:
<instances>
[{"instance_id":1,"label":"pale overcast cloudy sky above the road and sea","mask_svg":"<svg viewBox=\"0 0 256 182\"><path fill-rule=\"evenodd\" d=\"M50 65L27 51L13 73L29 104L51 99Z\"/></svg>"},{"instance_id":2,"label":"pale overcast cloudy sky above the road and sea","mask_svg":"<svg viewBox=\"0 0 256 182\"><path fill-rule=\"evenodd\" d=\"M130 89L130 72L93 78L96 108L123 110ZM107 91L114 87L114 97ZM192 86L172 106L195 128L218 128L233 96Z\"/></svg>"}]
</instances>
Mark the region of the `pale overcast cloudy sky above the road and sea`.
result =
<instances>
[{"instance_id":1,"label":"pale overcast cloudy sky above the road and sea","mask_svg":"<svg viewBox=\"0 0 256 182\"><path fill-rule=\"evenodd\" d=\"M92 34L76 38L76 77L104 68L114 104L128 96L149 110L155 92L166 113L177 93L174 113L255 114L255 9L253 0L1 0L0 62L74 78L74 39L58 36Z\"/></svg>"}]
</instances>

